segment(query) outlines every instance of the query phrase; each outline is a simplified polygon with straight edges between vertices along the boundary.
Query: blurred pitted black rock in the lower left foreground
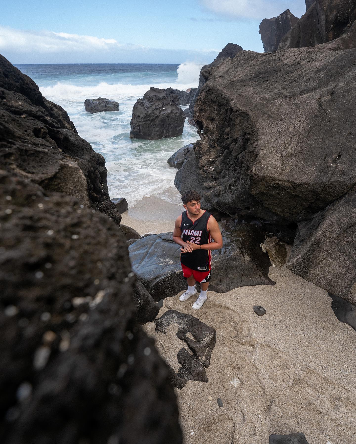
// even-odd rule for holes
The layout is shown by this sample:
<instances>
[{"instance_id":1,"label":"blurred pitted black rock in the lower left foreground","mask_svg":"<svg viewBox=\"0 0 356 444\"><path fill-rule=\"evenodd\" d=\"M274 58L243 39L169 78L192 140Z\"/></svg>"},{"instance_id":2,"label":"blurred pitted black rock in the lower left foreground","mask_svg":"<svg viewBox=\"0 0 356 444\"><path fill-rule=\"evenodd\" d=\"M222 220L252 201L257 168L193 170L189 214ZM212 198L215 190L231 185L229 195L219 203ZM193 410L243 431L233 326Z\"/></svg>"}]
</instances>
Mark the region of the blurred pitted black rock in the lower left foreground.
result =
<instances>
[{"instance_id":1,"label":"blurred pitted black rock in the lower left foreground","mask_svg":"<svg viewBox=\"0 0 356 444\"><path fill-rule=\"evenodd\" d=\"M180 443L119 227L3 170L0 223L1 442Z\"/></svg>"}]
</instances>

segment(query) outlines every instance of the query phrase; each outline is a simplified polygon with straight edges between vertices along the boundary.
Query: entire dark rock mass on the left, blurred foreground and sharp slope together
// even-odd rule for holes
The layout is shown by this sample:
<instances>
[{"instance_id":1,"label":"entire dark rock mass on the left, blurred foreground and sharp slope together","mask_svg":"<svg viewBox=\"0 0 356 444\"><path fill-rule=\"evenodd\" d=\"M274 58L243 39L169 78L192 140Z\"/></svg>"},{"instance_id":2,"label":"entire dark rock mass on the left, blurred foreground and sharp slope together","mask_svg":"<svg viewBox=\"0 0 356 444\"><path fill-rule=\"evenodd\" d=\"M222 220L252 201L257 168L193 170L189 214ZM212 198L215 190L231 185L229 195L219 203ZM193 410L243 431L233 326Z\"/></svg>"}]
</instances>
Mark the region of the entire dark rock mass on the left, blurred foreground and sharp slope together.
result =
<instances>
[{"instance_id":1,"label":"entire dark rock mass on the left, blurred foreground and sharp slope together","mask_svg":"<svg viewBox=\"0 0 356 444\"><path fill-rule=\"evenodd\" d=\"M181 443L169 369L135 318L125 239L98 211L115 209L105 161L0 63L0 440Z\"/></svg>"}]
</instances>

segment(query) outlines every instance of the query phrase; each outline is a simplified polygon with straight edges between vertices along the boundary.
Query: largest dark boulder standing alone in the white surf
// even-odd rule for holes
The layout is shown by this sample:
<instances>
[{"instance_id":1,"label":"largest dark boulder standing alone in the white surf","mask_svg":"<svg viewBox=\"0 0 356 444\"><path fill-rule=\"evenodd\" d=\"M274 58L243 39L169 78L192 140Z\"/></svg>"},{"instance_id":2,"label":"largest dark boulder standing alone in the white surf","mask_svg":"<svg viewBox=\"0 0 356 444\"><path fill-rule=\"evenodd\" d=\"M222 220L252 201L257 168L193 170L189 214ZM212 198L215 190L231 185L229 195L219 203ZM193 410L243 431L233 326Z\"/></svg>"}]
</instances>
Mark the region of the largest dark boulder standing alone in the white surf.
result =
<instances>
[{"instance_id":1,"label":"largest dark boulder standing alone in the white surf","mask_svg":"<svg viewBox=\"0 0 356 444\"><path fill-rule=\"evenodd\" d=\"M172 88L150 87L132 110L131 139L162 139L182 135L186 116Z\"/></svg>"}]
</instances>

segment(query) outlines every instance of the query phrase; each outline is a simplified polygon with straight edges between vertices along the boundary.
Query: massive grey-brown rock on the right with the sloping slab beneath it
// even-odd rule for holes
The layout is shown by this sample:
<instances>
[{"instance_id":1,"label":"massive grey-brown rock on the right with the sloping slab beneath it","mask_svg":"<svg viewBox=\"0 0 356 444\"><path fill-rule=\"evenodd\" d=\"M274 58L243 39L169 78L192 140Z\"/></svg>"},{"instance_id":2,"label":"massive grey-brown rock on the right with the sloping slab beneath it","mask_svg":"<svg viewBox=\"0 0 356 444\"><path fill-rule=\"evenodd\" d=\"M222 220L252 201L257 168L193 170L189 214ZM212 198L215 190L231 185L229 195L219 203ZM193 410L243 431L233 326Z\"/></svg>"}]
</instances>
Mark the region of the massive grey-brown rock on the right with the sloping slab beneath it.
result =
<instances>
[{"instance_id":1,"label":"massive grey-brown rock on the right with the sloping slab beneath it","mask_svg":"<svg viewBox=\"0 0 356 444\"><path fill-rule=\"evenodd\" d=\"M356 235L354 65L355 50L240 52L203 72L194 108L204 199L233 218L297 223L289 268L350 302L355 242L343 242ZM334 236L328 227L337 224Z\"/></svg>"}]
</instances>

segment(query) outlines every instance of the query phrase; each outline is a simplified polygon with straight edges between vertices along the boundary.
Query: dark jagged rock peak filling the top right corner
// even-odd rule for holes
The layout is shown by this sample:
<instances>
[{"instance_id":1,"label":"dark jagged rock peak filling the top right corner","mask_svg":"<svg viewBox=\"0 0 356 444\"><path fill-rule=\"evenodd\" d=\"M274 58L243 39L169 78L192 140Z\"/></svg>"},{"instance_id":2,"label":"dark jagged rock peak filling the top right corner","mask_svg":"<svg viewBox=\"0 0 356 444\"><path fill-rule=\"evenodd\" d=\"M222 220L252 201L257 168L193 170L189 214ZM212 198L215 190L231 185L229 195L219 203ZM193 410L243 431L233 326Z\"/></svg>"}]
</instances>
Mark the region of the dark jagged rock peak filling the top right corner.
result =
<instances>
[{"instance_id":1,"label":"dark jagged rock peak filling the top right corner","mask_svg":"<svg viewBox=\"0 0 356 444\"><path fill-rule=\"evenodd\" d=\"M356 2L353 0L316 0L283 37L278 48L302 48L331 42L348 34L355 17ZM352 46L349 43L347 48L355 47L355 39L350 36L348 39ZM346 49L345 44L340 48Z\"/></svg>"}]
</instances>

